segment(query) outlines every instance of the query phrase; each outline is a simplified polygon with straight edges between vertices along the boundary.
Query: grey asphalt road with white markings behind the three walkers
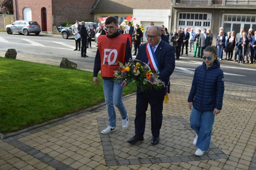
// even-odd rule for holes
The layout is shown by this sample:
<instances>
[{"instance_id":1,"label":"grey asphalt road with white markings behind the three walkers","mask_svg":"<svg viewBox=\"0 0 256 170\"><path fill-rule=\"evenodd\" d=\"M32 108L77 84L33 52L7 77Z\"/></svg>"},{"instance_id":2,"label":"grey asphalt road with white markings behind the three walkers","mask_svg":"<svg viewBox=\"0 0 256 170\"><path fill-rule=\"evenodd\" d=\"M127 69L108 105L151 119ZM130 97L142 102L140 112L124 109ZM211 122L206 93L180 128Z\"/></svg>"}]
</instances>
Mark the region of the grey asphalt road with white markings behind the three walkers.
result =
<instances>
[{"instance_id":1,"label":"grey asphalt road with white markings behind the three walkers","mask_svg":"<svg viewBox=\"0 0 256 170\"><path fill-rule=\"evenodd\" d=\"M95 42L92 42L92 48L88 48L87 55L89 57L80 57L80 51L73 51L75 48L74 38L64 40L61 36L43 35L29 36L6 33L0 33L0 52L5 52L9 48L15 48L18 53L28 54L24 60L50 63L59 65L62 57L67 57L71 61L78 64L79 69L93 70L94 59L97 51ZM134 51L132 51L134 53ZM133 56L135 58L135 56ZM22 59L22 58L21 58ZM220 61L221 68L224 71L225 82L256 85L256 65L238 64L232 61ZM189 53L188 57L181 56L176 61L176 68L173 74L193 76L194 69L202 64L202 59L192 57Z\"/></svg>"}]
</instances>

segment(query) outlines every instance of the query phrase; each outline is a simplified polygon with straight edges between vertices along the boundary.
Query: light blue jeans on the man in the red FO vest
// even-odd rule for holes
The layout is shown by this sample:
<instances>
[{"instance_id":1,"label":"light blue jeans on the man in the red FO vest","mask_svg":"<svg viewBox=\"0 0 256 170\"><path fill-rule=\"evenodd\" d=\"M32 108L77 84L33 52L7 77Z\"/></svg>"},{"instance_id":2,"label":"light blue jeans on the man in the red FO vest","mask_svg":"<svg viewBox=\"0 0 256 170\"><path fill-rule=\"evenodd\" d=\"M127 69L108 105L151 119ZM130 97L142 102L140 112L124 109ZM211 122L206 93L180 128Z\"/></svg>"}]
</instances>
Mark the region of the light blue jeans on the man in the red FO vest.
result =
<instances>
[{"instance_id":1,"label":"light blue jeans on the man in the red FO vest","mask_svg":"<svg viewBox=\"0 0 256 170\"><path fill-rule=\"evenodd\" d=\"M123 87L122 82L116 83L112 79L103 79L103 91L108 112L108 121L111 127L116 126L116 111L114 105L118 108L122 119L127 118L127 112L122 102Z\"/></svg>"}]
</instances>

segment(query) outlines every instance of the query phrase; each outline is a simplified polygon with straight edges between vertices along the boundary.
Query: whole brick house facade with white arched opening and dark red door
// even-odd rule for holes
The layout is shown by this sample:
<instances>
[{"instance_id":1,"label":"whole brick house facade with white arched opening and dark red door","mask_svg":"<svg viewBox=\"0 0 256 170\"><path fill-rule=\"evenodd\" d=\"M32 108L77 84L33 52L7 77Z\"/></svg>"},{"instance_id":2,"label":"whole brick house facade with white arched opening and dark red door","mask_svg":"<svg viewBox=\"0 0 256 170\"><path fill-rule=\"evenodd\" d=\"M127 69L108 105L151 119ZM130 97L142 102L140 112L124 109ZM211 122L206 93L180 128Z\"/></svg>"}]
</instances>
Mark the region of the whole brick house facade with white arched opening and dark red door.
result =
<instances>
[{"instance_id":1,"label":"whole brick house facade with white arched opening and dark red door","mask_svg":"<svg viewBox=\"0 0 256 170\"><path fill-rule=\"evenodd\" d=\"M92 22L90 13L97 0L13 0L14 20L33 20L42 31L52 32L52 26L63 22ZM86 4L86 5L85 5Z\"/></svg>"}]
</instances>

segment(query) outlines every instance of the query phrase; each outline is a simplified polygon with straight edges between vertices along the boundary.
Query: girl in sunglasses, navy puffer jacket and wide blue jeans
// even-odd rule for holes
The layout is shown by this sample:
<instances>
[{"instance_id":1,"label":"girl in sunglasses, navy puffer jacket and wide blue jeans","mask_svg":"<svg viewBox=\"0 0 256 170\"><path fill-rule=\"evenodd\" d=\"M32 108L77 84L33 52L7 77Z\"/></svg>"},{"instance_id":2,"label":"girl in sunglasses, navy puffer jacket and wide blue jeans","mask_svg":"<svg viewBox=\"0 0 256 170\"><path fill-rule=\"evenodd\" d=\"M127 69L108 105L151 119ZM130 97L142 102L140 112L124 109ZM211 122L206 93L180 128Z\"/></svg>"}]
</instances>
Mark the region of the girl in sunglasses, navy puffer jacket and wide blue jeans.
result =
<instances>
[{"instance_id":1,"label":"girl in sunglasses, navy puffer jacket and wide blue jeans","mask_svg":"<svg viewBox=\"0 0 256 170\"><path fill-rule=\"evenodd\" d=\"M198 148L195 152L197 156L210 149L214 117L222 109L224 94L224 75L216 47L206 47L203 59L202 65L195 70L188 96L188 108L192 109L190 127L196 131L193 144Z\"/></svg>"}]
</instances>

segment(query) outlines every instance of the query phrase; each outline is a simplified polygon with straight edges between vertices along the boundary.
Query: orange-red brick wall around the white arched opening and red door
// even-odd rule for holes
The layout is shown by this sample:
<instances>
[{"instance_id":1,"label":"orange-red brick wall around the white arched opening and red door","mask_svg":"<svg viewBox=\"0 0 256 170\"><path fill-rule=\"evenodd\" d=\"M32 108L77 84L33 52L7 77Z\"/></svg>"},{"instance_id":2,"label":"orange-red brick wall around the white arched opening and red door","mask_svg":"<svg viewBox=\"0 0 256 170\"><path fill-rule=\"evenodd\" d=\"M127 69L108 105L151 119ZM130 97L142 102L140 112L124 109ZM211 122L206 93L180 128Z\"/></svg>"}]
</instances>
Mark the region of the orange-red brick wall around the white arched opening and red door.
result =
<instances>
[{"instance_id":1,"label":"orange-red brick wall around the white arched opening and red door","mask_svg":"<svg viewBox=\"0 0 256 170\"><path fill-rule=\"evenodd\" d=\"M13 0L13 6L14 20L23 20L23 9L30 8L32 20L40 26L42 26L41 9L46 8L47 31L52 32L52 0Z\"/></svg>"}]
</instances>

